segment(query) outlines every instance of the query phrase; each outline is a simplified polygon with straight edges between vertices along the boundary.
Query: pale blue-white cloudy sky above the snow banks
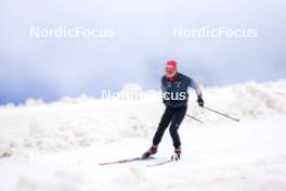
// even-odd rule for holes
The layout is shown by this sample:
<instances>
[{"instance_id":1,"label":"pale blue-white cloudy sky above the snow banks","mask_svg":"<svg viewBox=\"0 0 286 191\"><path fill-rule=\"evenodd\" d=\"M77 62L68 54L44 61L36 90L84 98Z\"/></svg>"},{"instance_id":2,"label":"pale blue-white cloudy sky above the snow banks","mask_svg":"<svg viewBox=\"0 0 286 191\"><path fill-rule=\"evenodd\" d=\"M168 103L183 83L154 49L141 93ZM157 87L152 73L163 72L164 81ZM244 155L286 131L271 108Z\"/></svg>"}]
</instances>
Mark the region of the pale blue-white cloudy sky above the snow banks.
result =
<instances>
[{"instance_id":1,"label":"pale blue-white cloudy sky above the snow banks","mask_svg":"<svg viewBox=\"0 0 286 191\"><path fill-rule=\"evenodd\" d=\"M126 82L159 87L164 65L204 86L286 77L285 1L0 0L0 104ZM113 38L32 38L30 27L112 28ZM256 28L257 38L173 38L173 27Z\"/></svg>"}]
</instances>

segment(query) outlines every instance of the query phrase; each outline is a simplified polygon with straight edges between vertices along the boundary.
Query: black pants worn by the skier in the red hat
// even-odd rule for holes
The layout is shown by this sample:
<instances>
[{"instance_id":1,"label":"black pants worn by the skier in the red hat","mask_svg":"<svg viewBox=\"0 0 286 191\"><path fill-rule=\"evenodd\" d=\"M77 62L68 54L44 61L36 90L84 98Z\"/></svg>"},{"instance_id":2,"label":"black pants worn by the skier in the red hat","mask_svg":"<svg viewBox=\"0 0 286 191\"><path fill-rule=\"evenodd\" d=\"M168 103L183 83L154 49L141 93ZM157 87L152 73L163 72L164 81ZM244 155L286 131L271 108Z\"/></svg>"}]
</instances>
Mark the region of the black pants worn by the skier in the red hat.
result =
<instances>
[{"instance_id":1,"label":"black pants worn by the skier in the red hat","mask_svg":"<svg viewBox=\"0 0 286 191\"><path fill-rule=\"evenodd\" d=\"M167 106L161 116L161 120L159 123L158 129L154 136L153 144L157 145L160 143L165 130L171 123L169 130L172 137L173 147L179 148L181 145L181 141L178 133L178 129L184 119L185 113L186 113L186 106L181 106L178 109L172 109Z\"/></svg>"}]
</instances>

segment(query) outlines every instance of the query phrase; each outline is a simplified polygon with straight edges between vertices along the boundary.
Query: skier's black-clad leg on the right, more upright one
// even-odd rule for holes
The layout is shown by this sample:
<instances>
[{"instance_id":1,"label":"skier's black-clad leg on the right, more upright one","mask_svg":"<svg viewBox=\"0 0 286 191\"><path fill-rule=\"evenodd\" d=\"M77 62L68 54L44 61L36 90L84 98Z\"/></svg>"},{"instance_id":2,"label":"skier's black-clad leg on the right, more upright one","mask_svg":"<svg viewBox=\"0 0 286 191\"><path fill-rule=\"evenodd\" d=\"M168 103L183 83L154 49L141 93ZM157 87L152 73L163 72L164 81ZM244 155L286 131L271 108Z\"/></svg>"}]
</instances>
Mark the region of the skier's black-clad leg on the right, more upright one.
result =
<instances>
[{"instance_id":1,"label":"skier's black-clad leg on the right, more upright one","mask_svg":"<svg viewBox=\"0 0 286 191\"><path fill-rule=\"evenodd\" d=\"M173 114L173 120L170 125L170 135L172 137L173 147L176 149L179 149L181 147L181 141L180 141L180 137L178 133L178 129L184 119L186 109L187 109L186 106L177 109Z\"/></svg>"}]
</instances>

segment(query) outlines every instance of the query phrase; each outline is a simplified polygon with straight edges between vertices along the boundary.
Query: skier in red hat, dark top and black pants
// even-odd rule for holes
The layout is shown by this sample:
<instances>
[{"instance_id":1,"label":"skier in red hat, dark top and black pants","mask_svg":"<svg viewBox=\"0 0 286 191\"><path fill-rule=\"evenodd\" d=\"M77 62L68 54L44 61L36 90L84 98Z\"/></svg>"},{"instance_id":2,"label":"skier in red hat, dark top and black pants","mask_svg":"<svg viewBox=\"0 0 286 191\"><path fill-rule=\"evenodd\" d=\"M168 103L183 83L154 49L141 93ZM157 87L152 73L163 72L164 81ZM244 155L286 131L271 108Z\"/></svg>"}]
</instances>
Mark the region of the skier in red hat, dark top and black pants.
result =
<instances>
[{"instance_id":1,"label":"skier in red hat, dark top and black pants","mask_svg":"<svg viewBox=\"0 0 286 191\"><path fill-rule=\"evenodd\" d=\"M171 160L178 161L181 158L181 141L178 135L180 124L183 122L187 110L187 88L191 87L196 91L197 103L204 106L202 90L196 81L181 74L177 69L176 61L168 61L166 64L166 75L161 78L162 102L166 110L162 114L157 131L153 138L153 145L148 151L143 153L142 160L157 153L158 144L167 127L170 125L170 135L172 138L174 154Z\"/></svg>"}]
</instances>

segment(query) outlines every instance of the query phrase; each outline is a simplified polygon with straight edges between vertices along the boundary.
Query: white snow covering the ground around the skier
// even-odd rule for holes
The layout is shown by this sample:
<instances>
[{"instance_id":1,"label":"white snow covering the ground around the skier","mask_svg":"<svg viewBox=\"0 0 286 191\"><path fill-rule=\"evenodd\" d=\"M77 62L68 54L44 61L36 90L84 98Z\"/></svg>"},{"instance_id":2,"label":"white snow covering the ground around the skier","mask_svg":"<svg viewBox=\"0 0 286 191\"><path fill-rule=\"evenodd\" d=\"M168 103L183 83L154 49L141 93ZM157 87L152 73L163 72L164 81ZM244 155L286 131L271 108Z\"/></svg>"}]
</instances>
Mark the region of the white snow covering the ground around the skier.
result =
<instances>
[{"instance_id":1,"label":"white snow covering the ground around the skier","mask_svg":"<svg viewBox=\"0 0 286 191\"><path fill-rule=\"evenodd\" d=\"M122 92L142 92L129 84ZM82 96L46 104L0 107L1 190L286 190L286 80L206 88L206 105L190 97L180 128L184 160L96 166L140 156L164 112L153 100L94 100ZM158 157L172 153L166 132ZM6 157L9 156L9 157ZM123 176L122 176L123 175Z\"/></svg>"}]
</instances>

